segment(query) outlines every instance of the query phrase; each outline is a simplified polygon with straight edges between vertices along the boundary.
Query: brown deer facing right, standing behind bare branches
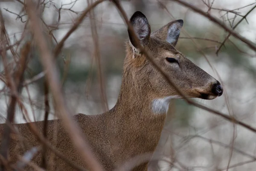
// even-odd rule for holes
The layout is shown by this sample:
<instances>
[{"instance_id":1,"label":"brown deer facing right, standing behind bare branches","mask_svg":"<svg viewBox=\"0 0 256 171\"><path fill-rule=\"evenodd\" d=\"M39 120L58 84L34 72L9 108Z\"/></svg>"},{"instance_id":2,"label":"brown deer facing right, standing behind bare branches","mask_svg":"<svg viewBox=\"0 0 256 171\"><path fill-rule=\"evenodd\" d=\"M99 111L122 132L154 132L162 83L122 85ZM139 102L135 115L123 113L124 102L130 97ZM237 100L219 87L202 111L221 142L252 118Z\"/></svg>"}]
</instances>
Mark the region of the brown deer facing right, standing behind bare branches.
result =
<instances>
[{"instance_id":1,"label":"brown deer facing right, standing behind bare branches","mask_svg":"<svg viewBox=\"0 0 256 171\"><path fill-rule=\"evenodd\" d=\"M165 72L176 86L189 98L211 100L223 93L220 82L192 63L175 46L180 36L183 20L174 20L151 32L145 15L137 11L130 23L143 48L152 60ZM164 79L163 75L148 60L135 43L128 29L126 56L123 64L122 83L114 107L102 114L85 115L78 113L74 121L86 136L91 151L105 171L113 171L119 166L131 171L147 171L160 135L163 130L169 103L183 97ZM73 147L61 119L48 120L47 140L70 161L86 168L84 161ZM43 131L44 121L35 122ZM17 154L23 155L30 147L40 146L39 140L31 132L28 123L13 124L23 141L12 132L9 146L9 163L16 165ZM55 128L57 129L56 134ZM0 125L3 133L3 124ZM16 136L15 136L16 135ZM24 145L21 145L24 144ZM148 154L148 159L140 157ZM51 152L47 150L49 162ZM128 161L139 161L129 168ZM41 165L42 151L38 151L32 162ZM47 165L49 171L75 171L60 157L55 156L55 165ZM26 170L33 170L26 166Z\"/></svg>"}]
</instances>

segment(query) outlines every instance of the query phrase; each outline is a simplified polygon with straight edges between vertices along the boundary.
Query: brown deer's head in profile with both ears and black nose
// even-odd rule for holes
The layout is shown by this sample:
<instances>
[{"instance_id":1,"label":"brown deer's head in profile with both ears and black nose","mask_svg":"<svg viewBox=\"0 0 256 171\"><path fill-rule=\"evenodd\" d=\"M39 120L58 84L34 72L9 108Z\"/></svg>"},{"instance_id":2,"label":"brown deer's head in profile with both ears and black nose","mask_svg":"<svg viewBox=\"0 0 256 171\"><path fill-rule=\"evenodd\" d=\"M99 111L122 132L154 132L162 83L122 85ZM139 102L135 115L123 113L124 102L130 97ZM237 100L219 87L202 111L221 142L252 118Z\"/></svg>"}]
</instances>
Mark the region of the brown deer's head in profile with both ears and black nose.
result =
<instances>
[{"instance_id":1,"label":"brown deer's head in profile with both ears and black nose","mask_svg":"<svg viewBox=\"0 0 256 171\"><path fill-rule=\"evenodd\" d=\"M223 88L219 81L175 49L183 20L172 21L152 33L147 18L141 12L135 12L130 19L130 23L141 45L151 55L154 62L167 73L169 78L186 96L215 99L222 95ZM124 71L131 74L129 81L132 81L134 86L143 89L144 95L142 96L148 96L152 101L157 101L156 103L159 103L159 100L163 102L169 99L181 98L174 87L140 53L129 30L128 33L130 40L127 43ZM123 81L125 81L124 79Z\"/></svg>"}]
</instances>

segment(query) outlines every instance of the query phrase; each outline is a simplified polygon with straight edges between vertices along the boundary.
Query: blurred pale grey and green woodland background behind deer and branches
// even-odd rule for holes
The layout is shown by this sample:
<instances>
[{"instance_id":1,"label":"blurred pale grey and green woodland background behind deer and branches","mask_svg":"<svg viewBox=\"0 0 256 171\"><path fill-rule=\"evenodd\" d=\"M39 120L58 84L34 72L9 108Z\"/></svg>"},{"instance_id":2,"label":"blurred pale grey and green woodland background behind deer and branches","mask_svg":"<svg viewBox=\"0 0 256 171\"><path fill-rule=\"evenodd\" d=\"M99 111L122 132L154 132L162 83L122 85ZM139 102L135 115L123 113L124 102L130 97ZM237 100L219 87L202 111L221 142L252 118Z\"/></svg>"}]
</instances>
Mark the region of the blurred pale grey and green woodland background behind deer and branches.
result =
<instances>
[{"instance_id":1,"label":"blurred pale grey and green woodland background behind deer and branches","mask_svg":"<svg viewBox=\"0 0 256 171\"><path fill-rule=\"evenodd\" d=\"M191 61L221 81L224 96L198 101L208 107L234 116L256 127L256 53L245 43L228 33L207 17L197 14L172 0L122 0L128 17L135 11L143 12L154 31L172 20L183 19L184 25L176 48ZM234 28L244 38L256 42L256 0L186 0L226 26ZM52 49L86 8L87 0L41 0L42 19ZM250 11L253 9L252 11ZM0 0L6 31L14 51L30 39L26 27L27 15L20 0ZM249 12L250 11L250 12ZM249 13L248 13L249 12ZM248 14L247 14L248 13ZM244 17L246 15L246 17ZM64 96L74 114L99 114L102 105L101 88L105 90L111 109L119 93L122 65L125 58L127 27L110 1L94 9L98 33L100 63L95 58L92 26L89 17L65 41L58 58L58 69ZM240 21L241 20L241 21ZM239 23L239 24L238 24ZM238 24L238 25L237 25ZM237 25L237 26L236 26ZM24 29L25 28L25 29ZM19 44L19 46L16 46ZM221 48L220 48L221 46ZM220 48L220 49L219 49ZM14 53L7 51L8 62L15 65ZM99 67L101 70L99 70ZM0 58L0 115L6 117L9 91L3 77ZM99 72L102 81L99 80ZM44 72L39 53L34 49L29 68L25 72L23 103L31 120L44 119ZM102 83L102 85L100 84ZM102 86L102 87L101 87ZM54 119L50 103L49 119ZM26 122L20 109L16 123ZM152 161L152 171L255 171L256 133L215 116L206 110L175 100L169 106L166 125L157 147L160 160Z\"/></svg>"}]
</instances>

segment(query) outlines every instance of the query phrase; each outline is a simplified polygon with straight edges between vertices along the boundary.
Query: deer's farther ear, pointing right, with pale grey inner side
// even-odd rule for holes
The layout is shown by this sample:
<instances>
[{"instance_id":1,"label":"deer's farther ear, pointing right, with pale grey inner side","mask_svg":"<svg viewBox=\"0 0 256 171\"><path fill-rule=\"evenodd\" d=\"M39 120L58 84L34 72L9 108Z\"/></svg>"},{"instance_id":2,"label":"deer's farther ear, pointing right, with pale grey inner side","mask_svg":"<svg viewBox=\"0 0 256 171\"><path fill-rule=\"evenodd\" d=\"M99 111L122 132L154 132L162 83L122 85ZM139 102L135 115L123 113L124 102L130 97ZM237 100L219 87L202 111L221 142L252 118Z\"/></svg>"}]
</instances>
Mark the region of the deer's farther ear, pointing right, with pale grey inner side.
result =
<instances>
[{"instance_id":1,"label":"deer's farther ear, pointing right, with pale grey inner side","mask_svg":"<svg viewBox=\"0 0 256 171\"><path fill-rule=\"evenodd\" d=\"M161 40L166 40L173 46L177 44L178 38L180 36L180 29L183 26L183 20L172 21L162 28L154 31L152 37L159 38Z\"/></svg>"}]
</instances>

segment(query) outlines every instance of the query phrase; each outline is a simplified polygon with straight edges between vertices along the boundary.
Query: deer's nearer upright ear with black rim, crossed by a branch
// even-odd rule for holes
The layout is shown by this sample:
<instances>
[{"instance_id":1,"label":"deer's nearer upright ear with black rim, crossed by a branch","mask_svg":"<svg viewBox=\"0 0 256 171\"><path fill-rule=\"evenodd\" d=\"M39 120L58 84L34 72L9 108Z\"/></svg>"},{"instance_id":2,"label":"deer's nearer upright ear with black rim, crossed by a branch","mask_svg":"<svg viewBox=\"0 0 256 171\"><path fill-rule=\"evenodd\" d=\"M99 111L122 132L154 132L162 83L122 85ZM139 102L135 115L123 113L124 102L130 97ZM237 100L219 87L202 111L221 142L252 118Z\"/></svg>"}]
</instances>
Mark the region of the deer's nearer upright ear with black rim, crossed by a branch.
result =
<instances>
[{"instance_id":1,"label":"deer's nearer upright ear with black rim, crossed by a branch","mask_svg":"<svg viewBox=\"0 0 256 171\"><path fill-rule=\"evenodd\" d=\"M148 23L147 18L142 12L135 12L130 19L130 23L134 28L134 32L137 35L137 38L139 38L140 43L143 45L148 41L148 38L150 36L150 26ZM136 46L134 38L131 36L131 31L128 29L129 38L131 41L131 44L135 47Z\"/></svg>"}]
</instances>

